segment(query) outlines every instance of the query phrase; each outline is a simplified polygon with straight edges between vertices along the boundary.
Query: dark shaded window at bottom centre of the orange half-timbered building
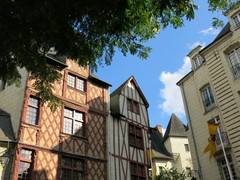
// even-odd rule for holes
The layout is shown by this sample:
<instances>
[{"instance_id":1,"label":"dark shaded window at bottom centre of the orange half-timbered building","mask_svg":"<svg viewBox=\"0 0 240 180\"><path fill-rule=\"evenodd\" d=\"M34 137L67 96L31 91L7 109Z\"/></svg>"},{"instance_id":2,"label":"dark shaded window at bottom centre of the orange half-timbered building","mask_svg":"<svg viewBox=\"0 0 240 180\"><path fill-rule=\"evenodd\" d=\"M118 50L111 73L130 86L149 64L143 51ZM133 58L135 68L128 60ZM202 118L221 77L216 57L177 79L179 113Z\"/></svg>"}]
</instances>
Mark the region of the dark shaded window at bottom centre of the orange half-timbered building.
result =
<instances>
[{"instance_id":1,"label":"dark shaded window at bottom centre of the orange half-timbered building","mask_svg":"<svg viewBox=\"0 0 240 180\"><path fill-rule=\"evenodd\" d=\"M84 161L76 158L62 157L61 180L83 180Z\"/></svg>"}]
</instances>

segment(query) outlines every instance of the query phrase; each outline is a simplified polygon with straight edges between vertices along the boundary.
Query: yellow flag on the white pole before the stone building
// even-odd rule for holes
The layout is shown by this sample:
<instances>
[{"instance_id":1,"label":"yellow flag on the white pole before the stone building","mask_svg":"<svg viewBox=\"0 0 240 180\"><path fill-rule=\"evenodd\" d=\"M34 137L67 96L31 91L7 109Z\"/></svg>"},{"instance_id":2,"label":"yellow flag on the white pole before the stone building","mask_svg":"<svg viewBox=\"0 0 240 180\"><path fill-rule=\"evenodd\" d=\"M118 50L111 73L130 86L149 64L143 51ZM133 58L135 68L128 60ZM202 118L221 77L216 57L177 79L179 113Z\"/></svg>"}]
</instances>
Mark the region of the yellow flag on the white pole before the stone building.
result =
<instances>
[{"instance_id":1,"label":"yellow flag on the white pole before the stone building","mask_svg":"<svg viewBox=\"0 0 240 180\"><path fill-rule=\"evenodd\" d=\"M211 161L213 155L216 152L215 137L216 137L217 127L218 127L217 124L208 124L210 138L209 138L209 143L207 147L204 149L203 153L210 151L209 161Z\"/></svg>"}]
</instances>

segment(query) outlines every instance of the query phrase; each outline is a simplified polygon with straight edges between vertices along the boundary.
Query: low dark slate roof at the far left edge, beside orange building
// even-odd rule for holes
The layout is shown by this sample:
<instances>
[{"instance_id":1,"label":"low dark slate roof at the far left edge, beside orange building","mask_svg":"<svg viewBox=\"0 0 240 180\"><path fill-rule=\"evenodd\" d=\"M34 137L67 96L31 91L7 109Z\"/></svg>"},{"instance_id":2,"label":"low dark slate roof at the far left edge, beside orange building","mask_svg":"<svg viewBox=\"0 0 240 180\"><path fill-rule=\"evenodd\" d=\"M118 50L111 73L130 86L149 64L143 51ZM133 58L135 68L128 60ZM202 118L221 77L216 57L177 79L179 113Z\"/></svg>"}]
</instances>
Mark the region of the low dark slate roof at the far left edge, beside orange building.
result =
<instances>
[{"instance_id":1,"label":"low dark slate roof at the far left edge, beside orange building","mask_svg":"<svg viewBox=\"0 0 240 180\"><path fill-rule=\"evenodd\" d=\"M14 141L10 115L0 109L0 141Z\"/></svg>"}]
</instances>

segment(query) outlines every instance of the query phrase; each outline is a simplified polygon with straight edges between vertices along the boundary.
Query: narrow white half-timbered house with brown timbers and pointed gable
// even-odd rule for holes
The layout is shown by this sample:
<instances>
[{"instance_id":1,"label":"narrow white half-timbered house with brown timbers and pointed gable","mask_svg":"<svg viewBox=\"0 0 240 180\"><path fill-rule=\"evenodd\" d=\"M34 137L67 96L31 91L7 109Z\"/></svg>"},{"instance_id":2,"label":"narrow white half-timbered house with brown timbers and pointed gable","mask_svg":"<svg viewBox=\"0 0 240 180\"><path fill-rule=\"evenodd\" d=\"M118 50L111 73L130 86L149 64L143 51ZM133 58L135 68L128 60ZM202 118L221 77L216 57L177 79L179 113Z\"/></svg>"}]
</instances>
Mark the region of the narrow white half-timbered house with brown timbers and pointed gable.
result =
<instances>
[{"instance_id":1,"label":"narrow white half-timbered house with brown timbers and pointed gable","mask_svg":"<svg viewBox=\"0 0 240 180\"><path fill-rule=\"evenodd\" d=\"M134 77L110 97L108 179L148 179L149 104Z\"/></svg>"}]
</instances>

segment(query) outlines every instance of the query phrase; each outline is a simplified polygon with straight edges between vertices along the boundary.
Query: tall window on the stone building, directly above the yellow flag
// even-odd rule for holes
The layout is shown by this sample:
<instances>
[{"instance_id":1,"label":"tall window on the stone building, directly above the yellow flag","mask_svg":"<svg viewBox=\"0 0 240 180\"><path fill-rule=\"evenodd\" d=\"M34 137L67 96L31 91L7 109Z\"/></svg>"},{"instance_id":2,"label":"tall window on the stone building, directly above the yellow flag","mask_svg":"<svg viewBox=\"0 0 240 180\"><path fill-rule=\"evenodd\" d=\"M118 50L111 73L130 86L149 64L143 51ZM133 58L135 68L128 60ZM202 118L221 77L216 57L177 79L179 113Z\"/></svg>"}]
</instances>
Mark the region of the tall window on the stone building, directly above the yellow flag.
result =
<instances>
[{"instance_id":1,"label":"tall window on the stone building, directly above the yellow flag","mask_svg":"<svg viewBox=\"0 0 240 180\"><path fill-rule=\"evenodd\" d=\"M216 106L216 103L213 96L212 88L209 84L201 88L201 96L205 110L207 112L211 111Z\"/></svg>"}]
</instances>

